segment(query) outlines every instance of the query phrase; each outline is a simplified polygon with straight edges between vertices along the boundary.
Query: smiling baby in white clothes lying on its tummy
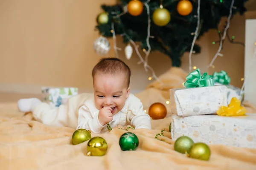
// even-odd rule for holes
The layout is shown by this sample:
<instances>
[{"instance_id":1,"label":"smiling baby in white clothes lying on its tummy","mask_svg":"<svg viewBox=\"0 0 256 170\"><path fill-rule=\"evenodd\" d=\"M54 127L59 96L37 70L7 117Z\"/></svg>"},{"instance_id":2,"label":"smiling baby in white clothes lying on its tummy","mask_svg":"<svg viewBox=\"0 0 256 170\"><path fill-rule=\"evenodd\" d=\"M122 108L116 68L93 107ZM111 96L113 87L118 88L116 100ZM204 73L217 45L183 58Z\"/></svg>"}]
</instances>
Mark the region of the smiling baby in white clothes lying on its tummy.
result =
<instances>
[{"instance_id":1,"label":"smiling baby in white clothes lying on its tummy","mask_svg":"<svg viewBox=\"0 0 256 170\"><path fill-rule=\"evenodd\" d=\"M46 125L65 126L100 133L118 125L151 129L151 119L140 99L130 94L131 70L122 60L102 58L93 68L94 94L70 97L66 104L52 109L39 99L20 99L21 112L32 112ZM108 125L107 125L108 124Z\"/></svg>"}]
</instances>

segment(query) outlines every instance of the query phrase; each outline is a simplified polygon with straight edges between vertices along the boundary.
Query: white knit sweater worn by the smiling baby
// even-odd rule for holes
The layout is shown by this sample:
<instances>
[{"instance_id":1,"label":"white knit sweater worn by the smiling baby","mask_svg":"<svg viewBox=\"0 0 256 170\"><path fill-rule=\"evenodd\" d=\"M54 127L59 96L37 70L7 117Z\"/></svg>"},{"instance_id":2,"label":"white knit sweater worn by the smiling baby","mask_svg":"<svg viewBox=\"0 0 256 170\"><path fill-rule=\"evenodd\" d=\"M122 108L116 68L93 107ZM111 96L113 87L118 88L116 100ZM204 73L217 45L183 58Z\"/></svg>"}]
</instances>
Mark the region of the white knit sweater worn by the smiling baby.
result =
<instances>
[{"instance_id":1,"label":"white knit sweater worn by the smiling baby","mask_svg":"<svg viewBox=\"0 0 256 170\"><path fill-rule=\"evenodd\" d=\"M94 133L107 130L107 125L102 126L98 119L99 109L94 103L94 96L89 97L79 108L78 111L78 126L76 129L87 129ZM135 129L146 128L151 129L150 116L143 110L143 105L133 94L130 94L125 101L125 105L121 111L113 116L113 120L109 122L110 126L132 125Z\"/></svg>"}]
</instances>

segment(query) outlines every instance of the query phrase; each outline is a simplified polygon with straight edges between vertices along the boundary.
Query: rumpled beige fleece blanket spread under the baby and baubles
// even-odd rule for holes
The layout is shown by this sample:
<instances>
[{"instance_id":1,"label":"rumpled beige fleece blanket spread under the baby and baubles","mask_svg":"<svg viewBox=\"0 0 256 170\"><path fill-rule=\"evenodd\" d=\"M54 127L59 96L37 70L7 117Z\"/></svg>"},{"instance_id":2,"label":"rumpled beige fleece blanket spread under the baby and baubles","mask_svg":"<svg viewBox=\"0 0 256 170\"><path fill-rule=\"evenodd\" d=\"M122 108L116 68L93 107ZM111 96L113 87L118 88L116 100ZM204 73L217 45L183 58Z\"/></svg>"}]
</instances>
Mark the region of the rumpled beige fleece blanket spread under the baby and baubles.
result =
<instances>
[{"instance_id":1,"label":"rumpled beige fleece blanket spread under the baby and baubles","mask_svg":"<svg viewBox=\"0 0 256 170\"><path fill-rule=\"evenodd\" d=\"M137 94L145 105L166 100L163 91L153 87ZM247 108L255 109L250 103ZM120 149L119 137L126 131L118 127L110 133L92 133L107 141L108 151L87 157L87 142L71 143L75 129L43 125L31 113L19 113L16 103L0 103L0 170L256 170L256 149L211 144L209 161L177 153L168 132L171 117L169 113L165 119L152 120L153 130L128 130L139 138L135 151ZM162 129L164 136L155 139Z\"/></svg>"}]
</instances>

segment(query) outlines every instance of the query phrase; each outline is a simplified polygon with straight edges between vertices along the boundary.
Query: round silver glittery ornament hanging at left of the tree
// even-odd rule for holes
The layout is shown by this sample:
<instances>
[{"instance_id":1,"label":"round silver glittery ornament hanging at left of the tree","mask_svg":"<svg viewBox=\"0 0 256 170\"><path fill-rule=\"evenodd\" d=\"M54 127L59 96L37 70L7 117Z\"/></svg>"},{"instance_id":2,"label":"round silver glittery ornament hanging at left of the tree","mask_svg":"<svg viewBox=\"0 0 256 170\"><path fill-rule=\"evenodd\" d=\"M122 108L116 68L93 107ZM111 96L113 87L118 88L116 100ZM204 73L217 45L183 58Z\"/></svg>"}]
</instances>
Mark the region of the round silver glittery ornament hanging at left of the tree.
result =
<instances>
[{"instance_id":1,"label":"round silver glittery ornament hanging at left of the tree","mask_svg":"<svg viewBox=\"0 0 256 170\"><path fill-rule=\"evenodd\" d=\"M93 43L93 48L99 56L108 54L108 51L110 50L108 39L105 37L97 38Z\"/></svg>"}]
</instances>

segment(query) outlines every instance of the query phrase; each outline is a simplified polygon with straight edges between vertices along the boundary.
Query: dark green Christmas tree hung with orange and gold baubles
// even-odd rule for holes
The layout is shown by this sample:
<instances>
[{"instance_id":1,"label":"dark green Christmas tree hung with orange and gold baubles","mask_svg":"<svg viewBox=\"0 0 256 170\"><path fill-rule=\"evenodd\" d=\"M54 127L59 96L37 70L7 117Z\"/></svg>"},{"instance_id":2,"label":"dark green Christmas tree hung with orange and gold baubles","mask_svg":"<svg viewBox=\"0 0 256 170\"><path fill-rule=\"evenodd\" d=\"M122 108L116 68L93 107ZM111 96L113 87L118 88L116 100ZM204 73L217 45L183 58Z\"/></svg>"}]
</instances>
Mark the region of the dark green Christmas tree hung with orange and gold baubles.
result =
<instances>
[{"instance_id":1,"label":"dark green Christmas tree hung with orange and gold baubles","mask_svg":"<svg viewBox=\"0 0 256 170\"><path fill-rule=\"evenodd\" d=\"M197 40L209 29L219 31L221 18L243 14L246 1L119 0L113 6L102 5L104 12L97 17L96 28L104 37L115 34L122 35L124 43L133 40L144 52L160 51L172 59L173 66L180 67L185 52L201 50L192 45L196 30Z\"/></svg>"}]
</instances>

